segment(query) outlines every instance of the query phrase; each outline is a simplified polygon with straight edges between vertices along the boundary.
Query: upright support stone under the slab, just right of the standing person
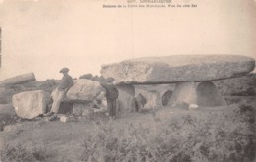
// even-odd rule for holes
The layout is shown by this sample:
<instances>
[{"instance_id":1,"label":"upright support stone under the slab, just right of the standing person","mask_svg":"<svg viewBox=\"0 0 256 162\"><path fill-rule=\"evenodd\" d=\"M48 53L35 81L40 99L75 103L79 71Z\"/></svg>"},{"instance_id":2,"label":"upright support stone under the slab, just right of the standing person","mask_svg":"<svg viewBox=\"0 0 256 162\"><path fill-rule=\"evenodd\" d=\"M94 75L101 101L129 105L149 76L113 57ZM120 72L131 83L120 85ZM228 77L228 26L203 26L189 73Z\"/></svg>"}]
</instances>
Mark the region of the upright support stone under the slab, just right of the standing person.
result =
<instances>
[{"instance_id":1,"label":"upright support stone under the slab, just right of the standing person","mask_svg":"<svg viewBox=\"0 0 256 162\"><path fill-rule=\"evenodd\" d=\"M133 85L130 84L118 84L116 85L119 96L119 111L121 112L131 112L135 111L135 89Z\"/></svg>"}]
</instances>

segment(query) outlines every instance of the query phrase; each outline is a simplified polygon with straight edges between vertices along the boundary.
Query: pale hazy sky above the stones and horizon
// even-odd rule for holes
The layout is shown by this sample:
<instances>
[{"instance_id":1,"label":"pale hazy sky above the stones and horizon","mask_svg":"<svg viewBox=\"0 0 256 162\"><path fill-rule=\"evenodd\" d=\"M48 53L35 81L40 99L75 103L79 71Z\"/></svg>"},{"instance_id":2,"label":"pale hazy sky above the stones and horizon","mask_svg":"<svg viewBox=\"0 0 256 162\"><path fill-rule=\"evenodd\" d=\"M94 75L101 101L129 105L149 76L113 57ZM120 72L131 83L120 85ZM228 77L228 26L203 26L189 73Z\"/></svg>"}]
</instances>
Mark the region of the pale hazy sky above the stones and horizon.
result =
<instances>
[{"instance_id":1,"label":"pale hazy sky above the stones and horizon","mask_svg":"<svg viewBox=\"0 0 256 162\"><path fill-rule=\"evenodd\" d=\"M139 0L137 0L139 1ZM100 75L101 65L181 54L256 59L256 1L172 0L195 8L103 8L126 0L0 0L0 81ZM138 2L137 2L138 4Z\"/></svg>"}]
</instances>

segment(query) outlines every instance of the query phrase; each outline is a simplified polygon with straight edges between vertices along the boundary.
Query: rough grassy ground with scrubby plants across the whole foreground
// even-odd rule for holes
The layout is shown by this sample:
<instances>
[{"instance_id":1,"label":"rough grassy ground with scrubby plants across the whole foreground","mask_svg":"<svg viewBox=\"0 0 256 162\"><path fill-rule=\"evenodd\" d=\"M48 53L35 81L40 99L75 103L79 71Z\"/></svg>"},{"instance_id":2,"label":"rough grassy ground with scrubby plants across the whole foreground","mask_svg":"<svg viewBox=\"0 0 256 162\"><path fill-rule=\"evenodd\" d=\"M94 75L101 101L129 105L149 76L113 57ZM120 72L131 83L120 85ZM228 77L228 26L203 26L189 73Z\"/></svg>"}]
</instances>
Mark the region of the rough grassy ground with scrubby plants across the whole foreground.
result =
<instances>
[{"instance_id":1,"label":"rough grassy ground with scrubby plants across the whole foreground","mask_svg":"<svg viewBox=\"0 0 256 162\"><path fill-rule=\"evenodd\" d=\"M193 111L164 108L114 121L101 114L70 123L20 122L0 132L2 161L252 162L255 114L251 102L237 102Z\"/></svg>"}]
</instances>

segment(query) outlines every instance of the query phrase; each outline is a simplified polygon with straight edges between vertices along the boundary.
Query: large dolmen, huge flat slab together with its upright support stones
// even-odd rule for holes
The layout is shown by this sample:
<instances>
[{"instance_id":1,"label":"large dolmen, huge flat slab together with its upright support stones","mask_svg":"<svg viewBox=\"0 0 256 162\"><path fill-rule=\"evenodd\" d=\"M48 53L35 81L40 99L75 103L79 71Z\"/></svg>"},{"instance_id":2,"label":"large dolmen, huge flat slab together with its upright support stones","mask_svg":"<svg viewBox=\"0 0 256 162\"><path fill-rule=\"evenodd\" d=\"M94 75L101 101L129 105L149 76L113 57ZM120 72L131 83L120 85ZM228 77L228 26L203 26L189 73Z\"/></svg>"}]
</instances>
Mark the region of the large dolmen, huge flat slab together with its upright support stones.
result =
<instances>
[{"instance_id":1,"label":"large dolmen, huge flat slab together with its upright support stones","mask_svg":"<svg viewBox=\"0 0 256 162\"><path fill-rule=\"evenodd\" d=\"M135 106L134 85L173 84L169 105L226 105L212 81L245 76L255 60L240 55L172 55L145 57L103 65L104 78L114 78L122 109Z\"/></svg>"}]
</instances>

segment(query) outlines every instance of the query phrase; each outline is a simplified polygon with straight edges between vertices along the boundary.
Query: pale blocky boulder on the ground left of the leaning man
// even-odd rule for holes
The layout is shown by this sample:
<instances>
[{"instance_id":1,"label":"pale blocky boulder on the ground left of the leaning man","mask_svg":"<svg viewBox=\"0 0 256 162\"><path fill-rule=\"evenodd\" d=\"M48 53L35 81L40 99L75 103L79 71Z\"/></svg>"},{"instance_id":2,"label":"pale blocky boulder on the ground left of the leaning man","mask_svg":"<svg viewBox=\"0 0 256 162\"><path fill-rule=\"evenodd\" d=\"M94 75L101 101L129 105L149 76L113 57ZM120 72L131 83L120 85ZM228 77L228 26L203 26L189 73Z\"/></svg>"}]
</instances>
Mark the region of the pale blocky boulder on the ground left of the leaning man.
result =
<instances>
[{"instance_id":1,"label":"pale blocky boulder on the ground left of the leaning man","mask_svg":"<svg viewBox=\"0 0 256 162\"><path fill-rule=\"evenodd\" d=\"M21 118L32 119L46 112L50 95L42 90L26 91L12 98L16 114Z\"/></svg>"}]
</instances>

